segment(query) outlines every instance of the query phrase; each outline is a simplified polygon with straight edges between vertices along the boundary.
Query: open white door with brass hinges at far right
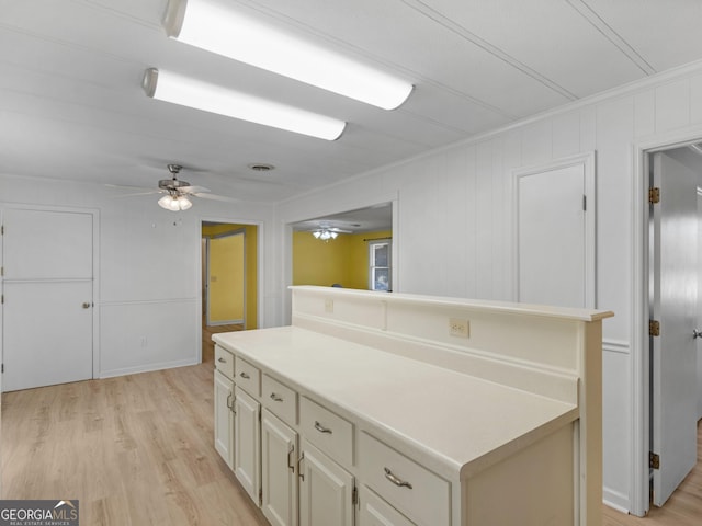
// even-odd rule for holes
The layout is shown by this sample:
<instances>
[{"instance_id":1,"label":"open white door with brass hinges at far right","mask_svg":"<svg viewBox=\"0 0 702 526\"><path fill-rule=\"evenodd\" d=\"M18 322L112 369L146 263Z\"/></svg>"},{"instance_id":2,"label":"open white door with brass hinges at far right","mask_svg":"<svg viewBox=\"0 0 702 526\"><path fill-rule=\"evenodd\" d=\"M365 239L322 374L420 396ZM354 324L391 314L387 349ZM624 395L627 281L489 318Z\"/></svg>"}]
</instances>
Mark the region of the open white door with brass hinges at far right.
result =
<instances>
[{"instance_id":1,"label":"open white door with brass hinges at far right","mask_svg":"<svg viewBox=\"0 0 702 526\"><path fill-rule=\"evenodd\" d=\"M660 202L653 206L652 338L653 503L661 506L697 462L697 173L684 151L653 156Z\"/></svg>"}]
</instances>

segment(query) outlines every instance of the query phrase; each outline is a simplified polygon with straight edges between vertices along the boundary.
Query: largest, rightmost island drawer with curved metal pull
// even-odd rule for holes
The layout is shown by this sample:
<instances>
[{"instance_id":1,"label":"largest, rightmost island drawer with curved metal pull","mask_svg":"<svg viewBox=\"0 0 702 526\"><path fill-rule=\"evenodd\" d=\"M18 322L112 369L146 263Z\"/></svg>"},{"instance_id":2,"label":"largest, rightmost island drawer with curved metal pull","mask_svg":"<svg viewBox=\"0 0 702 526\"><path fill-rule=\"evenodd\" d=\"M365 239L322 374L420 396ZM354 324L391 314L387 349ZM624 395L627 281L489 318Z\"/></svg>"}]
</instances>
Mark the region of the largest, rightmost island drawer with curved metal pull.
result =
<instances>
[{"instance_id":1,"label":"largest, rightmost island drawer with curved metal pull","mask_svg":"<svg viewBox=\"0 0 702 526\"><path fill-rule=\"evenodd\" d=\"M417 524L448 526L451 484L395 449L361 433L360 478Z\"/></svg>"}]
</instances>

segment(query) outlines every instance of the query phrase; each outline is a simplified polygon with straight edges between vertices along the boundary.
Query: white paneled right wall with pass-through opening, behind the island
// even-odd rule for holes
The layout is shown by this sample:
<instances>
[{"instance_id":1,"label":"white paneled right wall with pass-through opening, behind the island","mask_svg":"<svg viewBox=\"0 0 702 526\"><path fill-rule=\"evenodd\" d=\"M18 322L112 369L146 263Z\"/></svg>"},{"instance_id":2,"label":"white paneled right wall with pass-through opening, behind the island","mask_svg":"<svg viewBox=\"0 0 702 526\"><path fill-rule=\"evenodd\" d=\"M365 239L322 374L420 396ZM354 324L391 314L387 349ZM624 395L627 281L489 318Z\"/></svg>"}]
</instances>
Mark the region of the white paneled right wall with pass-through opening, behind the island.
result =
<instances>
[{"instance_id":1,"label":"white paneled right wall with pass-through opening, behind the island","mask_svg":"<svg viewBox=\"0 0 702 526\"><path fill-rule=\"evenodd\" d=\"M632 501L634 144L676 132L702 137L702 64L590 98L282 203L282 224L396 196L403 293L512 299L512 170L597 152L597 307L604 322L604 499ZM343 196L343 201L339 201ZM353 204L353 206L350 206ZM359 206L361 205L361 206ZM290 242L280 227L290 276ZM282 306L285 309L285 304Z\"/></svg>"}]
</instances>

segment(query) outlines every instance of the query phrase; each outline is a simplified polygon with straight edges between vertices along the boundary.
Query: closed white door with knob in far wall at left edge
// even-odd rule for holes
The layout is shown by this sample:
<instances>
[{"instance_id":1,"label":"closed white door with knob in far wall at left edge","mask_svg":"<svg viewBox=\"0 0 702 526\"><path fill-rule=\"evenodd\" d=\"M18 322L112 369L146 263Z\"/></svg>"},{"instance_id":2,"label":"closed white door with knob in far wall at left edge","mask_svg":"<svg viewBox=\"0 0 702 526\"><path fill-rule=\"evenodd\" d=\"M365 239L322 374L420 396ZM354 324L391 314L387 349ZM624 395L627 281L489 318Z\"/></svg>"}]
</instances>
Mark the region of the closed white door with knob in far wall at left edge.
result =
<instances>
[{"instance_id":1,"label":"closed white door with knob in far wall at left edge","mask_svg":"<svg viewBox=\"0 0 702 526\"><path fill-rule=\"evenodd\" d=\"M9 208L3 227L3 390L92 378L92 214Z\"/></svg>"}]
</instances>

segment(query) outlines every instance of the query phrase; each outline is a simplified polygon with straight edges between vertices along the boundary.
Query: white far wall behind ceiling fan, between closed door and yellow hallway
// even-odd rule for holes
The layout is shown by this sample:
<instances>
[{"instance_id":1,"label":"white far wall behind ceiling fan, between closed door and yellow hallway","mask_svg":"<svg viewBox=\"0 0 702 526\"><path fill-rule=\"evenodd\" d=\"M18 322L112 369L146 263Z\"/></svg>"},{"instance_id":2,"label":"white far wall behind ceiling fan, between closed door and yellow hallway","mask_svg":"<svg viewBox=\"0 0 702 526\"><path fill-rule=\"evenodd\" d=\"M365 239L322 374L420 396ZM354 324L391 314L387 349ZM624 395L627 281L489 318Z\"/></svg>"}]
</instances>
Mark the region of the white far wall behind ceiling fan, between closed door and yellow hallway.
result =
<instances>
[{"instance_id":1,"label":"white far wall behind ceiling fan, between closed door and yellow hallway","mask_svg":"<svg viewBox=\"0 0 702 526\"><path fill-rule=\"evenodd\" d=\"M60 204L99 210L98 377L200 362L204 219L259 225L259 286L267 296L265 275L272 271L261 255L271 250L267 226L274 217L272 206L197 199L190 210L171 213L158 207L154 195L114 198L114 190L98 184L8 174L0 174L0 209ZM260 324L270 324L270 308L260 302Z\"/></svg>"}]
</instances>

